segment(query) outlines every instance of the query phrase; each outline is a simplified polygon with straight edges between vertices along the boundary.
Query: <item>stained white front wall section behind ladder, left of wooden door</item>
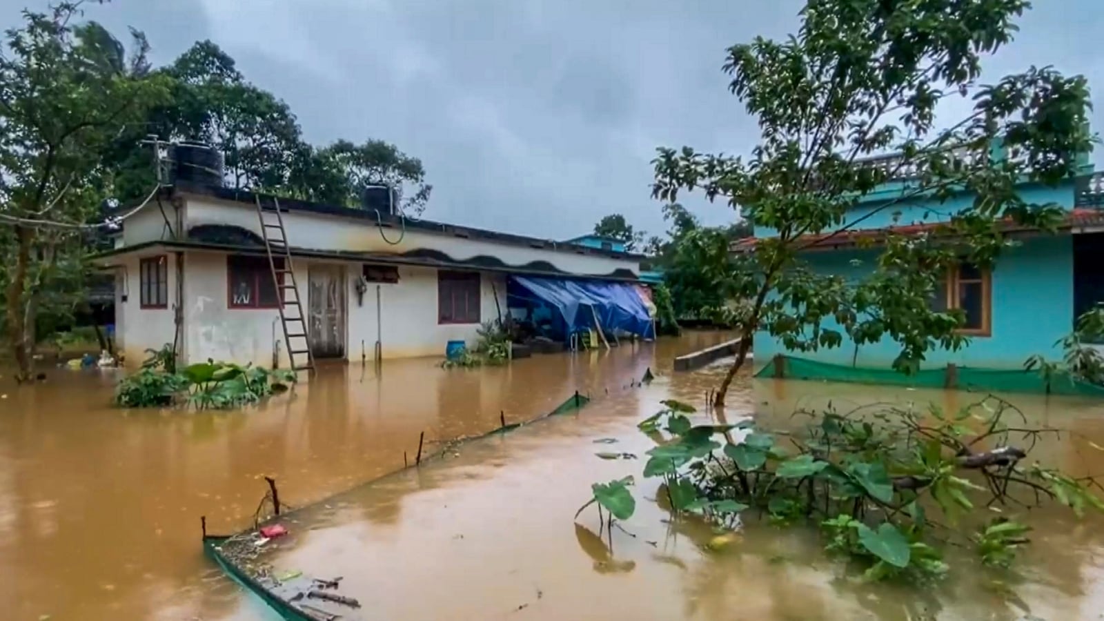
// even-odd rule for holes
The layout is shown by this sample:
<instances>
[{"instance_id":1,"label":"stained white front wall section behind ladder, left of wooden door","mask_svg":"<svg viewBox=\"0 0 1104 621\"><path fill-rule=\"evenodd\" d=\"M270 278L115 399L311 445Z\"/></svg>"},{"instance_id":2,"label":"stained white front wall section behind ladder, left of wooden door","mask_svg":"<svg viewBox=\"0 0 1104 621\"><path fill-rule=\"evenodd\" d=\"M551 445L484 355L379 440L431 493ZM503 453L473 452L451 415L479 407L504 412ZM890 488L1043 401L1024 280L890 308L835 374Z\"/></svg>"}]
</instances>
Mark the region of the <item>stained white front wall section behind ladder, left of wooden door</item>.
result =
<instances>
[{"instance_id":1,"label":"stained white front wall section behind ladder, left of wooden door","mask_svg":"<svg viewBox=\"0 0 1104 621\"><path fill-rule=\"evenodd\" d=\"M189 252L184 266L184 359L188 364L212 358L272 367L275 333L280 341L279 367L290 366L277 309L230 308L225 253ZM307 262L293 261L293 267L299 299L307 312ZM286 295L290 296L290 292Z\"/></svg>"}]
</instances>

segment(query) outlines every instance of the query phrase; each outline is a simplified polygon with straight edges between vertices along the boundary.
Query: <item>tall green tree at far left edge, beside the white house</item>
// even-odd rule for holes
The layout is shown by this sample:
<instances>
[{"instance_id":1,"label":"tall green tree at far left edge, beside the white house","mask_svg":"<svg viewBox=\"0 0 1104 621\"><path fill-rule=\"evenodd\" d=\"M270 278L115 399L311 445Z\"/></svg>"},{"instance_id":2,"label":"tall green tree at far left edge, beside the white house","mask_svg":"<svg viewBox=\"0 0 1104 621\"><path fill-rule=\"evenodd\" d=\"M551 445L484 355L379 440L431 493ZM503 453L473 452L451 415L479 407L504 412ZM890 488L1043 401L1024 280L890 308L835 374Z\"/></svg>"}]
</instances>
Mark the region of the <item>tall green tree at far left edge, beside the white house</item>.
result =
<instances>
[{"instance_id":1,"label":"tall green tree at far left edge, beside the white house","mask_svg":"<svg viewBox=\"0 0 1104 621\"><path fill-rule=\"evenodd\" d=\"M98 24L71 25L78 6L24 11L0 54L0 278L19 378L31 370L43 303L87 273L88 222L112 191L105 154L167 94L147 73L145 38L132 31L127 57Z\"/></svg>"}]
</instances>

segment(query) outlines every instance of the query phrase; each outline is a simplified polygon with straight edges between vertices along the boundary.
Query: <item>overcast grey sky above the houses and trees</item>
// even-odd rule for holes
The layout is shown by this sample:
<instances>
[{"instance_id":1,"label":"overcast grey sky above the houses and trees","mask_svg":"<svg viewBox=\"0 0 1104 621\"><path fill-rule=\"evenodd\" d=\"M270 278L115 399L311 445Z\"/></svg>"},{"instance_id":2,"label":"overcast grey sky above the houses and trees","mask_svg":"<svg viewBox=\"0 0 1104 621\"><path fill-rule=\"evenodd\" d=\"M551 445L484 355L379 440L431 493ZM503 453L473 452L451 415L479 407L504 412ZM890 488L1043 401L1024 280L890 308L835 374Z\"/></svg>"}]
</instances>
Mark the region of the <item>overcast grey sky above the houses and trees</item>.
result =
<instances>
[{"instance_id":1,"label":"overcast grey sky above the houses and trees","mask_svg":"<svg viewBox=\"0 0 1104 621\"><path fill-rule=\"evenodd\" d=\"M746 152L757 128L728 93L724 50L796 31L802 4L114 0L87 17L124 40L127 25L145 31L159 64L213 40L291 106L310 141L381 138L422 158L426 218L564 239L613 212L662 231L648 187L657 146ZM0 0L4 27L24 6L45 0ZM1104 0L1036 6L986 76L1053 64L1104 93ZM734 218L683 202L708 223Z\"/></svg>"}]
</instances>

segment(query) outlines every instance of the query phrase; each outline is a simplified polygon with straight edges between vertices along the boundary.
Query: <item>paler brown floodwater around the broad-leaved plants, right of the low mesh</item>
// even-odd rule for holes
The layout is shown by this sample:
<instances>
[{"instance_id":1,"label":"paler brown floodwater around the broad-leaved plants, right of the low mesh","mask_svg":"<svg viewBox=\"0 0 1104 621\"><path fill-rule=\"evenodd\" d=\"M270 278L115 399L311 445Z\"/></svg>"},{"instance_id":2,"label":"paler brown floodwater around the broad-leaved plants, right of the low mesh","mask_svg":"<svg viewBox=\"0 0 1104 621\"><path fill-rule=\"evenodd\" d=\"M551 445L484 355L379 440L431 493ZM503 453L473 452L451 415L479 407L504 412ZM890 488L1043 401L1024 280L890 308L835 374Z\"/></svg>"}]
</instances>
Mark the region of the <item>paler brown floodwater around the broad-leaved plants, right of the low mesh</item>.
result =
<instances>
[{"instance_id":1,"label":"paler brown floodwater around the broad-leaved plants, right of the low mesh","mask_svg":"<svg viewBox=\"0 0 1104 621\"><path fill-rule=\"evenodd\" d=\"M662 399L700 404L723 368L666 375L612 390L572 415L465 444L424 464L283 519L265 561L275 573L342 576L340 592L363 603L346 619L440 620L1080 620L1104 618L1104 519L1047 507L1006 515L1036 527L1013 573L987 570L951 548L952 573L932 587L866 585L825 555L815 533L750 522L739 539L708 551L711 529L671 520L641 480L651 440L636 422ZM892 401L957 410L981 396L899 388L751 380L742 377L725 417L790 427L797 408L838 411ZM1071 474L1104 473L1104 406L1007 396L1030 424L1073 435L1032 459ZM616 440L615 443L608 439ZM598 451L639 460L604 461ZM636 475L637 512L602 533L594 507L573 515L593 482ZM612 546L612 551L611 551ZM329 608L333 609L333 606ZM340 608L340 607L338 607Z\"/></svg>"}]
</instances>

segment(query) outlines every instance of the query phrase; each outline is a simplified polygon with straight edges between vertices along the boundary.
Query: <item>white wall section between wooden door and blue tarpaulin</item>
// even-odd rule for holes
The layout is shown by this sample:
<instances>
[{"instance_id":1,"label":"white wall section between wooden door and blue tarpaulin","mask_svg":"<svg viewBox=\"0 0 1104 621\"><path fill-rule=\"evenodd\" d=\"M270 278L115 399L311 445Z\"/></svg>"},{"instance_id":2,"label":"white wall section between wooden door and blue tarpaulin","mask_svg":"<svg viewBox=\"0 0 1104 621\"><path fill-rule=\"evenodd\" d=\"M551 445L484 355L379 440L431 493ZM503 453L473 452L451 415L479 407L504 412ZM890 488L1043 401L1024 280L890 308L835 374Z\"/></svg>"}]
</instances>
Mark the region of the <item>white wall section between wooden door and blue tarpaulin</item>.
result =
<instances>
[{"instance_id":1,"label":"white wall section between wooden door and blue tarpaulin","mask_svg":"<svg viewBox=\"0 0 1104 621\"><path fill-rule=\"evenodd\" d=\"M351 360L374 358L378 334L375 283L368 284L363 305L358 303L354 288L359 264L351 264L349 284L349 347ZM383 358L444 357L449 340L464 340L474 346L479 324L437 324L437 270L432 267L399 267L399 282L380 284L382 328L380 337ZM506 313L506 275L485 272L480 277L479 318L496 319L499 305ZM363 349L362 344L363 343Z\"/></svg>"}]
</instances>

